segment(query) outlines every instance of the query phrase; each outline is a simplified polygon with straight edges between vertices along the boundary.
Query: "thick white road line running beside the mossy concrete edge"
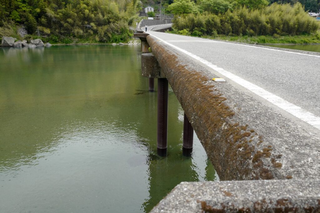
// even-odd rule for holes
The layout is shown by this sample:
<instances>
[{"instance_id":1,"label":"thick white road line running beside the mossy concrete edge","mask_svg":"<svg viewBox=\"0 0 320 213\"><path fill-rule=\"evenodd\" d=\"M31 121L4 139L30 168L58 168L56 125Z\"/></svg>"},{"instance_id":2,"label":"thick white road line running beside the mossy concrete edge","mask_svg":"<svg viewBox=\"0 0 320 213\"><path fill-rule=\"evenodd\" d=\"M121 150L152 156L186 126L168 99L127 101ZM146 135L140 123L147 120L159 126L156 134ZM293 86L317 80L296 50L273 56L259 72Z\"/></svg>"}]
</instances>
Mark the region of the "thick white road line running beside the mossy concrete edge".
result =
<instances>
[{"instance_id":1,"label":"thick white road line running beside the mossy concrete edge","mask_svg":"<svg viewBox=\"0 0 320 213\"><path fill-rule=\"evenodd\" d=\"M252 91L256 95L259 95L260 97L266 99L270 103L289 112L293 116L299 118L300 120L302 120L302 121L304 121L304 122L310 124L311 126L314 126L315 128L320 130L320 117L317 117L316 115L312 114L311 112L308 112L308 111L302 109L301 107L294 105L293 103L290 103L290 102L284 100L283 98L281 98L277 95L274 95L274 94L268 92L267 90L265 90L261 87L258 87L257 85L252 84L251 82L244 80L231 72L224 70L221 67L218 67L217 65L213 65L212 63L204 60L201 57L198 57L198 56L188 52L187 50L181 49L180 47L177 47L173 44L170 44L170 43L162 40L161 38L158 38L155 35L152 35L152 36L154 36L159 41L164 42L165 44L173 47L174 49L178 49L181 52L187 54L188 56L195 58L196 60L200 61L201 63L209 66L210 68L214 69L215 71L219 72L220 74L226 76L230 80L232 80L232 81L236 82L237 84L243 86L244 88Z\"/></svg>"}]
</instances>

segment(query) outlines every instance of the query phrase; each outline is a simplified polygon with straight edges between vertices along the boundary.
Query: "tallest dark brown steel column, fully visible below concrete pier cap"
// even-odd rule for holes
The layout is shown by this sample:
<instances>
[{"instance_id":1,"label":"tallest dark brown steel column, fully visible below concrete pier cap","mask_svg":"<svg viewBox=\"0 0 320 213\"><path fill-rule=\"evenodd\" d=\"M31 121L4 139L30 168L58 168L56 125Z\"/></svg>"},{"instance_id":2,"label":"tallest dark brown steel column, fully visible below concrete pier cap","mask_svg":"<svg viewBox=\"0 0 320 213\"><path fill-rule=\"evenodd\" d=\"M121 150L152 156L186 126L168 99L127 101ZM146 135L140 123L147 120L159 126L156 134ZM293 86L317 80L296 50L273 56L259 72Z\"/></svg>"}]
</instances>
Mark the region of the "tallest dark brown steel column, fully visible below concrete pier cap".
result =
<instances>
[{"instance_id":1,"label":"tallest dark brown steel column, fully visible below concrete pier cap","mask_svg":"<svg viewBox=\"0 0 320 213\"><path fill-rule=\"evenodd\" d=\"M158 78L158 126L157 126L157 153L167 155L168 138L168 80Z\"/></svg>"}]
</instances>

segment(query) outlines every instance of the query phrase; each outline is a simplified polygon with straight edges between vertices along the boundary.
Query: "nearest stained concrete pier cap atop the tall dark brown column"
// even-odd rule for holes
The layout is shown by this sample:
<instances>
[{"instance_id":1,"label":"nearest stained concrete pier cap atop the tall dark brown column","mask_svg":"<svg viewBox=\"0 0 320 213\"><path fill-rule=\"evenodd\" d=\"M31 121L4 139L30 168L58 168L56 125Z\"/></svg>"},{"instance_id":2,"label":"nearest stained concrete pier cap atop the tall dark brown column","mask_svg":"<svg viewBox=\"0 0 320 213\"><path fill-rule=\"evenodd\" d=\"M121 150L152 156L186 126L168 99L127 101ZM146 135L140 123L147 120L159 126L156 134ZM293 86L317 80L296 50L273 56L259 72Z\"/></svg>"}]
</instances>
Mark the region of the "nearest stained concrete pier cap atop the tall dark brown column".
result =
<instances>
[{"instance_id":1,"label":"nearest stained concrete pier cap atop the tall dark brown column","mask_svg":"<svg viewBox=\"0 0 320 213\"><path fill-rule=\"evenodd\" d=\"M156 57L152 53L141 54L142 76L148 78L165 78Z\"/></svg>"}]
</instances>

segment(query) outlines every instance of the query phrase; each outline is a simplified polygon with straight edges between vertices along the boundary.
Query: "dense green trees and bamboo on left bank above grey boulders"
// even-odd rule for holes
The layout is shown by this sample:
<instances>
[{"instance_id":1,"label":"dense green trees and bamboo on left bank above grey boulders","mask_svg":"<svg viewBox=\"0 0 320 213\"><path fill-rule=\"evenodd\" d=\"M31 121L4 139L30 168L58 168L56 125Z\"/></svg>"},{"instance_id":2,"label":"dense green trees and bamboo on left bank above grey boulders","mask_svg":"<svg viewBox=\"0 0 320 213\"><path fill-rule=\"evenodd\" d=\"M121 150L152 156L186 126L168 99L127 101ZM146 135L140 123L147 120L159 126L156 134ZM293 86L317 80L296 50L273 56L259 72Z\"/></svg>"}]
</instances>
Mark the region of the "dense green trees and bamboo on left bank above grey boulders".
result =
<instances>
[{"instance_id":1,"label":"dense green trees and bamboo on left bank above grey boulders","mask_svg":"<svg viewBox=\"0 0 320 213\"><path fill-rule=\"evenodd\" d=\"M0 36L50 43L122 42L139 21L137 0L0 0Z\"/></svg>"}]
</instances>

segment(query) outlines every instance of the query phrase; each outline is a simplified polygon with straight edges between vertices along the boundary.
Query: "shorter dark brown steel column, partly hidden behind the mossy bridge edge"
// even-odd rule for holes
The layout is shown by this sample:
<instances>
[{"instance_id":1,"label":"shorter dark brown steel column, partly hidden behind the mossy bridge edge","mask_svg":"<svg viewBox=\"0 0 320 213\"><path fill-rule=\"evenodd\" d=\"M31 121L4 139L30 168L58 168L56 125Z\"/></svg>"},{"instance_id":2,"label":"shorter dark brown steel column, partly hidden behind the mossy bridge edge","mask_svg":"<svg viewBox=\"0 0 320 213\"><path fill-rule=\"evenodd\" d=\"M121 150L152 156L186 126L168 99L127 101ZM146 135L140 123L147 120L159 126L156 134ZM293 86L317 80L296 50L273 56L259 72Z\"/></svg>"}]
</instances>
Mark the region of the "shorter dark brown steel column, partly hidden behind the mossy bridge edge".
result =
<instances>
[{"instance_id":1,"label":"shorter dark brown steel column, partly hidden behind the mossy bridge edge","mask_svg":"<svg viewBox=\"0 0 320 213\"><path fill-rule=\"evenodd\" d=\"M186 113L184 113L182 154L187 157L191 156L192 146L193 146L193 127L191 126Z\"/></svg>"}]
</instances>

